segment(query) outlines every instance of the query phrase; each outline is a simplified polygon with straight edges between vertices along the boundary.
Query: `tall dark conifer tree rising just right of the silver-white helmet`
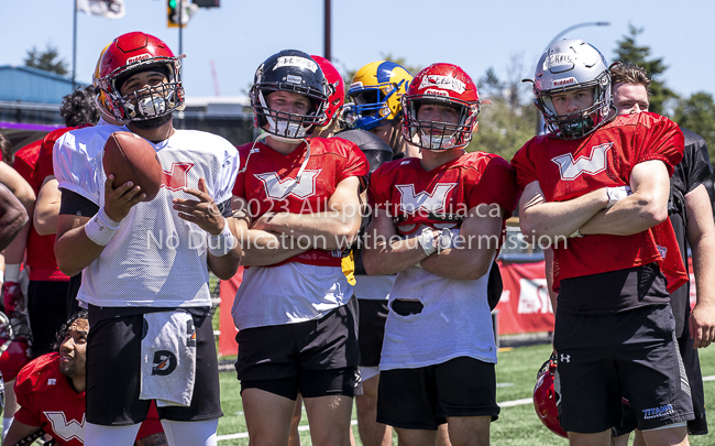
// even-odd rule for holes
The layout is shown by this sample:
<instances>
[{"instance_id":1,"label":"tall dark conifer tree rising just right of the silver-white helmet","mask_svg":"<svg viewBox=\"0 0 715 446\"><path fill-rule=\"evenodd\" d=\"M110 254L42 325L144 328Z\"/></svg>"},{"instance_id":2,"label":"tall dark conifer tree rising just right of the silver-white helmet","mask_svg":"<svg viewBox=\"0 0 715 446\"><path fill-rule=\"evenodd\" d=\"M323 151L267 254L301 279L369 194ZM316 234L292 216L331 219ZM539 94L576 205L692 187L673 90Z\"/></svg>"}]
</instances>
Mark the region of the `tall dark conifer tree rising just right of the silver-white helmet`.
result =
<instances>
[{"instance_id":1,"label":"tall dark conifer tree rising just right of the silver-white helmet","mask_svg":"<svg viewBox=\"0 0 715 446\"><path fill-rule=\"evenodd\" d=\"M663 115L668 108L668 102L678 99L678 94L668 88L664 80L662 80L662 74L668 69L663 58L649 58L650 47L640 46L636 42L636 37L642 32L642 28L628 25L628 34L617 42L616 61L638 65L646 69L648 76L652 79L650 84L650 111Z\"/></svg>"}]
</instances>

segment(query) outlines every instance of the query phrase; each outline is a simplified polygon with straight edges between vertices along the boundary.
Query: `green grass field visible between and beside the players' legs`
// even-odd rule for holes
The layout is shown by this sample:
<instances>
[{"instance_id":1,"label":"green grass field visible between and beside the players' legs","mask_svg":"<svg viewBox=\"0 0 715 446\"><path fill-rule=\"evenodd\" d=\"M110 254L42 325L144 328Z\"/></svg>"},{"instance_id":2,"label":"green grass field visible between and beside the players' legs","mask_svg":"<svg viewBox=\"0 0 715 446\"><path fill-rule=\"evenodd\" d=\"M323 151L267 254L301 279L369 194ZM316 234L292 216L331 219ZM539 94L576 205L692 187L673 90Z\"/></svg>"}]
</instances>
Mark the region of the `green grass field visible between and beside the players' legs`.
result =
<instances>
[{"instance_id":1,"label":"green grass field visible between and beside the players' legs","mask_svg":"<svg viewBox=\"0 0 715 446\"><path fill-rule=\"evenodd\" d=\"M496 367L497 388L496 398L499 403L531 398L536 373L541 363L549 357L550 345L520 347L501 351ZM715 376L715 348L710 347L700 351L703 377ZM715 401L715 379L704 382L705 402L707 405ZM243 406L239 394L240 387L234 372L221 373L221 404L223 416L219 422L219 446L242 445L248 446L246 428L243 417ZM355 420L353 411L353 420ZM307 418L301 418L301 425L307 426ZM711 433L715 432L715 415L708 420ZM362 445L358 435L358 426L353 425L353 433L358 445ZM231 434L242 434L240 438L226 438ZM301 444L310 445L309 432L300 432ZM503 406L499 420L492 423L492 444L505 446L538 446L538 445L566 445L568 440L549 432L537 418L534 405L519 404ZM715 435L691 437L691 445L715 446ZM395 439L393 444L397 445Z\"/></svg>"}]
</instances>

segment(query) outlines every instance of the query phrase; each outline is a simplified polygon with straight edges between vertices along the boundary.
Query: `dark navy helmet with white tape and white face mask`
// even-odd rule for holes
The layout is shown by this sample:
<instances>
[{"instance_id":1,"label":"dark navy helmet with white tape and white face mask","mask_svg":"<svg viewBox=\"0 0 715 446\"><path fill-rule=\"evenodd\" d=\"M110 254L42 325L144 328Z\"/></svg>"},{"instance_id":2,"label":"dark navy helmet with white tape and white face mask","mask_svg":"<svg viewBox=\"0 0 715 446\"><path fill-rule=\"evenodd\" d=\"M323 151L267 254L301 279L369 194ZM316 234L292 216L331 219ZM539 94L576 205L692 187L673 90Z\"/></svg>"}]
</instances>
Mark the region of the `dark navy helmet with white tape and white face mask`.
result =
<instances>
[{"instance_id":1,"label":"dark navy helmet with white tape and white face mask","mask_svg":"<svg viewBox=\"0 0 715 446\"><path fill-rule=\"evenodd\" d=\"M271 109L266 97L279 90L306 96L312 109L306 115ZM304 139L316 126L327 123L329 91L328 81L312 57L301 51L284 50L265 59L255 72L250 91L254 123L278 138Z\"/></svg>"}]
</instances>

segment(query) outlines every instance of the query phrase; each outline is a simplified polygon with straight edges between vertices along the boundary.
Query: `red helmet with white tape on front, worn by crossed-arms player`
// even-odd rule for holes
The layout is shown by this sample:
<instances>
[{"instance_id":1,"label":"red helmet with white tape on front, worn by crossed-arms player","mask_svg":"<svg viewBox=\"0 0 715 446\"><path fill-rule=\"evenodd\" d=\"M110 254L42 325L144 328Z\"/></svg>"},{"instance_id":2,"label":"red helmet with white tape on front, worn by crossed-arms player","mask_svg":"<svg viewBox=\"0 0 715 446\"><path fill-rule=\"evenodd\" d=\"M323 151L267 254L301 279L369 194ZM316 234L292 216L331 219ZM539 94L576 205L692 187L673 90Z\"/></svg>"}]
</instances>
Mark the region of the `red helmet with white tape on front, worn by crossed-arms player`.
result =
<instances>
[{"instance_id":1,"label":"red helmet with white tape on front, worn by crossed-arms player","mask_svg":"<svg viewBox=\"0 0 715 446\"><path fill-rule=\"evenodd\" d=\"M427 150L465 148L472 141L481 104L476 85L462 68L452 64L432 64L415 76L402 98L405 120L403 135L410 144ZM420 121L417 112L424 104L453 107L457 123Z\"/></svg>"}]
</instances>

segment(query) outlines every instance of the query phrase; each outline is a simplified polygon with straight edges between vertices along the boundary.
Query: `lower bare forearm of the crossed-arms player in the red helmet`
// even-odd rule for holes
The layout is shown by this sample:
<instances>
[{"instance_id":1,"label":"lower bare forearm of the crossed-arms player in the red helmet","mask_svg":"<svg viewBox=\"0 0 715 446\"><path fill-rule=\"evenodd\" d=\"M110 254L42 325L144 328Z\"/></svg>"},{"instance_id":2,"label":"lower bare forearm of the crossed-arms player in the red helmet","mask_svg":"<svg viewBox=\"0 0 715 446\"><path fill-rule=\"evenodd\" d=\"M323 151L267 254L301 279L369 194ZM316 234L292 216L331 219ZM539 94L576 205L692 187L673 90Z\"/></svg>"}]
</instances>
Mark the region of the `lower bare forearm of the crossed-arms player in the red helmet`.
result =
<instances>
[{"instance_id":1,"label":"lower bare forearm of the crossed-arms player in the red helmet","mask_svg":"<svg viewBox=\"0 0 715 446\"><path fill-rule=\"evenodd\" d=\"M451 248L422 260L425 271L446 279L477 280L490 271L496 248Z\"/></svg>"}]
</instances>

